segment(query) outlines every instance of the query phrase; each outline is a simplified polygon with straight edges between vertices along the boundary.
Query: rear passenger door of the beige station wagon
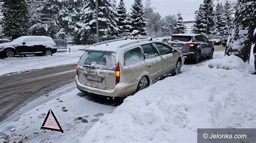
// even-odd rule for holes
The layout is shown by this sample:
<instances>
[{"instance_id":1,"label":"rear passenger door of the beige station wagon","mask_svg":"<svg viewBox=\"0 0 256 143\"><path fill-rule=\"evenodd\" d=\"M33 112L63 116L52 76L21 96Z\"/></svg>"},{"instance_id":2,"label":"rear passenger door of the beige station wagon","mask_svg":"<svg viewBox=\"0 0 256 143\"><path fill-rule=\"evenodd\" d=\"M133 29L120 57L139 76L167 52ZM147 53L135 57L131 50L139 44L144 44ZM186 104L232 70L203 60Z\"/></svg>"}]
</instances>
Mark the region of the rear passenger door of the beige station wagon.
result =
<instances>
[{"instance_id":1,"label":"rear passenger door of the beige station wagon","mask_svg":"<svg viewBox=\"0 0 256 143\"><path fill-rule=\"evenodd\" d=\"M142 48L147 65L147 71L149 72L151 82L154 82L163 75L163 59L160 57L153 44L143 45Z\"/></svg>"}]
</instances>

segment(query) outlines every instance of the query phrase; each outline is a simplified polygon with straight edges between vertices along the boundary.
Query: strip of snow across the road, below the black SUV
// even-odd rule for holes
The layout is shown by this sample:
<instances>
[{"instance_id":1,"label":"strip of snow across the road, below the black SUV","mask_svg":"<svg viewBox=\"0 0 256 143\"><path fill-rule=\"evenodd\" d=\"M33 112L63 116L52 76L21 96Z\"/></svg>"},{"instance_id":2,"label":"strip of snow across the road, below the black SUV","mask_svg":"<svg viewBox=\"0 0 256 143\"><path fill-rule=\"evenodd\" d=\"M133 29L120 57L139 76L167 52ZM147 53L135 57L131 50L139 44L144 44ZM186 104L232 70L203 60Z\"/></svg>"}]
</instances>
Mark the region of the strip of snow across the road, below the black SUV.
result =
<instances>
[{"instance_id":1,"label":"strip of snow across the road, below the black SUV","mask_svg":"<svg viewBox=\"0 0 256 143\"><path fill-rule=\"evenodd\" d=\"M71 52L57 52L48 57L26 56L0 59L0 75L76 63L84 53L80 49L86 47L88 46L71 46Z\"/></svg>"}]
</instances>

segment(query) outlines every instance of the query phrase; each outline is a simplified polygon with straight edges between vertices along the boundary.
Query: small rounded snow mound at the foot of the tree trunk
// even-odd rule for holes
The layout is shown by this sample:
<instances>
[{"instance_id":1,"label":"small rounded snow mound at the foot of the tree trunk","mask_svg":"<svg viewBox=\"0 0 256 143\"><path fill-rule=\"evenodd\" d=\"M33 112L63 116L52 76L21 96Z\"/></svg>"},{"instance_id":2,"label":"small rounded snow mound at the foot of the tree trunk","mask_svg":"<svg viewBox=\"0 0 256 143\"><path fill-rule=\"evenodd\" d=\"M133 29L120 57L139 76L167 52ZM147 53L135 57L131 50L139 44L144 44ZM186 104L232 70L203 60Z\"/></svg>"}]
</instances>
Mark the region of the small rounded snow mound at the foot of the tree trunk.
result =
<instances>
[{"instance_id":1,"label":"small rounded snow mound at the foot of the tree trunk","mask_svg":"<svg viewBox=\"0 0 256 143\"><path fill-rule=\"evenodd\" d=\"M214 59L210 62L208 62L208 66L210 68L223 68L223 69L244 69L244 70L250 70L251 66L247 63L242 61L241 58L235 55L230 55L230 56L224 56L221 59Z\"/></svg>"}]
</instances>

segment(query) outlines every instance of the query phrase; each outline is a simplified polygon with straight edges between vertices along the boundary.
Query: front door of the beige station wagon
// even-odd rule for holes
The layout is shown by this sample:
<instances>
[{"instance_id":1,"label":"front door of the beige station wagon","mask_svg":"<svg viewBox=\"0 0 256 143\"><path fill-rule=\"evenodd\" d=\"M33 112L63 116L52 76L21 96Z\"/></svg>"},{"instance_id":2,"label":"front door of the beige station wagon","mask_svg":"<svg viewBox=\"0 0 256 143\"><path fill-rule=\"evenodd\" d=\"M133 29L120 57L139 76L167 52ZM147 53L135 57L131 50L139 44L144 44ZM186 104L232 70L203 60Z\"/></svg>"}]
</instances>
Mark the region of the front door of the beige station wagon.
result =
<instances>
[{"instance_id":1,"label":"front door of the beige station wagon","mask_svg":"<svg viewBox=\"0 0 256 143\"><path fill-rule=\"evenodd\" d=\"M155 43L154 45L156 45L158 48L158 51L161 54L161 58L163 59L163 74L165 75L170 73L173 69L175 69L176 66L176 58L173 56L171 47L161 43Z\"/></svg>"}]
</instances>

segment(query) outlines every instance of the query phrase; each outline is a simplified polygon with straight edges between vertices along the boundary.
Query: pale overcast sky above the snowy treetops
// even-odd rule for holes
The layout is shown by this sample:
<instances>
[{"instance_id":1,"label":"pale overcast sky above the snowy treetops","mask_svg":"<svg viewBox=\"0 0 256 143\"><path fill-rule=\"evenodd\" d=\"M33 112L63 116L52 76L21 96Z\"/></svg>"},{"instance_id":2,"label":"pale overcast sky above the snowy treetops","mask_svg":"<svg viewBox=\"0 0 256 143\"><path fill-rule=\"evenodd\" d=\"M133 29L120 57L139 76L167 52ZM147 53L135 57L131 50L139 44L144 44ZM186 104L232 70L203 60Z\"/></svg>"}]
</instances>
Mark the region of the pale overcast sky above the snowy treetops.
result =
<instances>
[{"instance_id":1,"label":"pale overcast sky above the snowy treetops","mask_svg":"<svg viewBox=\"0 0 256 143\"><path fill-rule=\"evenodd\" d=\"M130 9L134 0L124 0L124 2L126 7ZM162 17L166 15L175 15L180 12L184 20L192 20L194 11L196 11L199 5L203 3L203 0L151 0L151 2L151 6L155 7L155 11L159 12Z\"/></svg>"}]
</instances>

